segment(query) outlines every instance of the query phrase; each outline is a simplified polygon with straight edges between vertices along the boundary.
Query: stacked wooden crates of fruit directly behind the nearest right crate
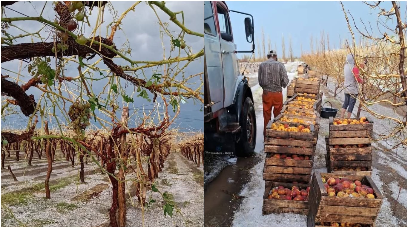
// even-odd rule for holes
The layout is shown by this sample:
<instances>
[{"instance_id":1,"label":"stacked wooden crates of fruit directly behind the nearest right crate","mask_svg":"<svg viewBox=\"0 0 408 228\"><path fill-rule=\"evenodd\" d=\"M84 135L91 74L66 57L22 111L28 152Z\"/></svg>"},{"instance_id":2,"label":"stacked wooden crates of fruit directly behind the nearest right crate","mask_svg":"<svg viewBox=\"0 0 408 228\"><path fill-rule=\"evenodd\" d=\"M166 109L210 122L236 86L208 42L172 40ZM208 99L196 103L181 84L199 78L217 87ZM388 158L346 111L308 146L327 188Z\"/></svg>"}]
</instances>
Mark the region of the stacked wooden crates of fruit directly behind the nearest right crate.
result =
<instances>
[{"instance_id":1,"label":"stacked wooden crates of fruit directly behind the nearest right crate","mask_svg":"<svg viewBox=\"0 0 408 228\"><path fill-rule=\"evenodd\" d=\"M350 118L348 124L339 123L340 120L329 118L325 156L328 172L371 171L374 123L365 117Z\"/></svg>"}]
</instances>

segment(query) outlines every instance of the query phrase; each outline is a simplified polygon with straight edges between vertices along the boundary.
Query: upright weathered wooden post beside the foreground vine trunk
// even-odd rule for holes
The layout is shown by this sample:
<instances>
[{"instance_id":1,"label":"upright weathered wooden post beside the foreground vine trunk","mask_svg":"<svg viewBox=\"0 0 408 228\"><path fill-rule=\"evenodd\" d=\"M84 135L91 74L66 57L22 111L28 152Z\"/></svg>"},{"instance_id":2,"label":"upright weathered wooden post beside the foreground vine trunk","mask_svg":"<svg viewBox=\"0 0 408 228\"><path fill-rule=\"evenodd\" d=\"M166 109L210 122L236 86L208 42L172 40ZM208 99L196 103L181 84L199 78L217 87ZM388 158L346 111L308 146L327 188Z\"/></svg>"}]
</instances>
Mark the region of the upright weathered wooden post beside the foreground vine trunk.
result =
<instances>
[{"instance_id":1,"label":"upright weathered wooden post beside the foreground vine trunk","mask_svg":"<svg viewBox=\"0 0 408 228\"><path fill-rule=\"evenodd\" d=\"M120 127L119 131L125 130L125 127L127 127L127 121L129 118L129 108L128 107L123 107L123 113L122 113L122 118L120 121L122 122L122 127ZM126 149L126 134L122 134L119 138L120 140L120 145L119 145L119 152L120 152L120 158L122 159L122 162L120 162L120 168L119 168L119 175L118 179L120 182L118 183L118 226L119 227L125 227L126 226L126 195L125 195L125 172L124 168L126 167L126 159L128 157L128 150Z\"/></svg>"}]
</instances>

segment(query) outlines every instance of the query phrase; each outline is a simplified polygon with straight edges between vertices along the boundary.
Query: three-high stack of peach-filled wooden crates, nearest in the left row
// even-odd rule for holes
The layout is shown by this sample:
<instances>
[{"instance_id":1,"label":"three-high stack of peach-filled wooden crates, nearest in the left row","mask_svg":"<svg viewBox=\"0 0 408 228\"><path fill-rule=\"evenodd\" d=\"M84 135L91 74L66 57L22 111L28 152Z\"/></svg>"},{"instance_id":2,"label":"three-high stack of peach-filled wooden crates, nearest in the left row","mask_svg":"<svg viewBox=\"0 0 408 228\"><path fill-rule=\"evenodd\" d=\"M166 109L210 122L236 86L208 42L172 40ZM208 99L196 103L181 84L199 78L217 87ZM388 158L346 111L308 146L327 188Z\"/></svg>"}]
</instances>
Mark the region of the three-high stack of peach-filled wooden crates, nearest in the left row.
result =
<instances>
[{"instance_id":1,"label":"three-high stack of peach-filled wooden crates, nearest in the left row","mask_svg":"<svg viewBox=\"0 0 408 228\"><path fill-rule=\"evenodd\" d=\"M292 127L292 128L291 128ZM308 129L308 130L306 130ZM289 131L290 130L290 131ZM314 125L275 123L270 121L266 127L266 153L263 178L265 193L262 213L300 213L308 214L306 188L309 186L313 167ZM290 197L292 190L300 188L298 198ZM285 188L285 194L273 193ZM304 190L303 190L304 189ZM283 190L281 190L283 191ZM275 195L274 195L275 194ZM294 196L293 196L294 197Z\"/></svg>"}]
</instances>

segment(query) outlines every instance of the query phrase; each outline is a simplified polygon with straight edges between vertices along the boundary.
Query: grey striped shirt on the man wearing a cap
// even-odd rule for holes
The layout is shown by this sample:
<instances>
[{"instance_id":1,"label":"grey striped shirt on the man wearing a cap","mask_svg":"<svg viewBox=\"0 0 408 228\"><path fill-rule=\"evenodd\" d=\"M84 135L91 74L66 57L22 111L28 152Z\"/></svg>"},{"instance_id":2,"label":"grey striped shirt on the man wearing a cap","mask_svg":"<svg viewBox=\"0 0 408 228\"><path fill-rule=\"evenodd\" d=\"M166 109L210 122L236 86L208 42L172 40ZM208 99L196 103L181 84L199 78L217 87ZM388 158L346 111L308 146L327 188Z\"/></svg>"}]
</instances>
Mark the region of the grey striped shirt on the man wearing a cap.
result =
<instances>
[{"instance_id":1,"label":"grey striped shirt on the man wearing a cap","mask_svg":"<svg viewBox=\"0 0 408 228\"><path fill-rule=\"evenodd\" d=\"M289 83L285 65L274 59L268 59L259 65L258 83L263 90L280 92Z\"/></svg>"}]
</instances>

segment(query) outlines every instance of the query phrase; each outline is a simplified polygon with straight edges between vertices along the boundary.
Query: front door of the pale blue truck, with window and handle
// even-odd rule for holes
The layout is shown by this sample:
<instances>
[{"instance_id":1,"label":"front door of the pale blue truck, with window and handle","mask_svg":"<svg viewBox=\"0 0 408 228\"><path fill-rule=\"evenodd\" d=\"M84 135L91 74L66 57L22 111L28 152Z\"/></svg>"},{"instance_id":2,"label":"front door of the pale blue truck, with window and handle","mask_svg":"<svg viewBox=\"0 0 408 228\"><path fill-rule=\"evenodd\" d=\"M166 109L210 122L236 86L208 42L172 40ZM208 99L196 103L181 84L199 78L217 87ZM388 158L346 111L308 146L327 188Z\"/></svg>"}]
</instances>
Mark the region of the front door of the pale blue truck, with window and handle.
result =
<instances>
[{"instance_id":1,"label":"front door of the pale blue truck, with window and handle","mask_svg":"<svg viewBox=\"0 0 408 228\"><path fill-rule=\"evenodd\" d=\"M223 4L217 3L217 17L221 35L220 43L225 91L224 107L228 107L234 101L235 85L239 75L238 59L237 54L235 54L236 48L233 42L228 10Z\"/></svg>"}]
</instances>

